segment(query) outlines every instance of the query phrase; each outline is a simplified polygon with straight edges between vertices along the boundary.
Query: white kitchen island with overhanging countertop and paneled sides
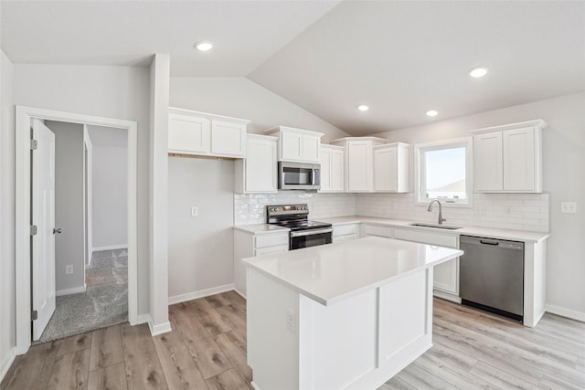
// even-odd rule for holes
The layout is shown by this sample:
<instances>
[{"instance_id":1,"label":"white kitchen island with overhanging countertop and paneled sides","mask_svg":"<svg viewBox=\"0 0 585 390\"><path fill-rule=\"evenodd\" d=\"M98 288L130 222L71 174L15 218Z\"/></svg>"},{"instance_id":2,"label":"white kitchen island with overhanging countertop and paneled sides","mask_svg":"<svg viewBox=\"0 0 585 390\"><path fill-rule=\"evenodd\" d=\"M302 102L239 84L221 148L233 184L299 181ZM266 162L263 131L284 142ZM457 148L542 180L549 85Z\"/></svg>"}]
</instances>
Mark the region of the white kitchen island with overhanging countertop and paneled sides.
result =
<instances>
[{"instance_id":1,"label":"white kitchen island with overhanging countertop and paneled sides","mask_svg":"<svg viewBox=\"0 0 585 390\"><path fill-rule=\"evenodd\" d=\"M252 385L382 385L431 348L432 269L462 254L367 237L244 258Z\"/></svg>"}]
</instances>

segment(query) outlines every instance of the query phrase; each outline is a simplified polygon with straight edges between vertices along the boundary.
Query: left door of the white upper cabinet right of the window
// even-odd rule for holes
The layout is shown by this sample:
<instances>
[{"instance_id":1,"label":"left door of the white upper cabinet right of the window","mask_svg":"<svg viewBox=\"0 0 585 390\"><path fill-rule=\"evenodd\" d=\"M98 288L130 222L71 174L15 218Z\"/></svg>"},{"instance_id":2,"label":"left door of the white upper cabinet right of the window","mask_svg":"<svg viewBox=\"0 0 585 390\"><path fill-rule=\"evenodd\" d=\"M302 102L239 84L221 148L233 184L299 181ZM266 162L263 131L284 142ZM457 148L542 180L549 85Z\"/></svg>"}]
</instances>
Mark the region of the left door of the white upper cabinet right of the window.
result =
<instances>
[{"instance_id":1,"label":"left door of the white upper cabinet right of the window","mask_svg":"<svg viewBox=\"0 0 585 390\"><path fill-rule=\"evenodd\" d=\"M502 132L488 132L473 137L475 191L502 191Z\"/></svg>"}]
</instances>

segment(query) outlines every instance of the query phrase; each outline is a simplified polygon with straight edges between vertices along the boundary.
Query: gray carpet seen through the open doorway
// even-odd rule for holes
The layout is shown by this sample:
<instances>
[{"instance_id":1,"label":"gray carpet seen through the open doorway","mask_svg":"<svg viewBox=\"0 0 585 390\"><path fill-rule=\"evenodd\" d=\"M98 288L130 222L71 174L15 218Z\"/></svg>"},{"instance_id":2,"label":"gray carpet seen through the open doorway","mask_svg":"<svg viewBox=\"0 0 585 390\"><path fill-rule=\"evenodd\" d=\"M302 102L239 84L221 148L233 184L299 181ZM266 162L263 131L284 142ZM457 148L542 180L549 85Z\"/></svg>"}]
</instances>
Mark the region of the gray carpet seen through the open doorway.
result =
<instances>
[{"instance_id":1,"label":"gray carpet seen through the open doorway","mask_svg":"<svg viewBox=\"0 0 585 390\"><path fill-rule=\"evenodd\" d=\"M36 343L94 331L128 321L128 254L103 250L85 271L87 290L57 297L57 307Z\"/></svg>"}]
</instances>

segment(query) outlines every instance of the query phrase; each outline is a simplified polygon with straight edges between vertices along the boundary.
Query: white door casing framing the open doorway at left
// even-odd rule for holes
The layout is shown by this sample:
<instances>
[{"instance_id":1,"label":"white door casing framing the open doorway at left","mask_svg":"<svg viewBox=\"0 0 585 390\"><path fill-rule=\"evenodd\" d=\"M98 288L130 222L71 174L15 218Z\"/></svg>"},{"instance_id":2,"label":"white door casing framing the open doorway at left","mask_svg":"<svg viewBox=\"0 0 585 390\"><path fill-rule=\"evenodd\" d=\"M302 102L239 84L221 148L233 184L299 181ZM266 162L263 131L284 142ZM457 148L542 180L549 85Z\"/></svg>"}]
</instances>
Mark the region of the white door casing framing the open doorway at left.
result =
<instances>
[{"instance_id":1,"label":"white door casing framing the open doorway at left","mask_svg":"<svg viewBox=\"0 0 585 390\"><path fill-rule=\"evenodd\" d=\"M27 353L30 322L30 121L66 121L114 127L128 131L128 321L136 324L138 311L136 159L137 123L64 111L16 106L16 353Z\"/></svg>"}]
</instances>

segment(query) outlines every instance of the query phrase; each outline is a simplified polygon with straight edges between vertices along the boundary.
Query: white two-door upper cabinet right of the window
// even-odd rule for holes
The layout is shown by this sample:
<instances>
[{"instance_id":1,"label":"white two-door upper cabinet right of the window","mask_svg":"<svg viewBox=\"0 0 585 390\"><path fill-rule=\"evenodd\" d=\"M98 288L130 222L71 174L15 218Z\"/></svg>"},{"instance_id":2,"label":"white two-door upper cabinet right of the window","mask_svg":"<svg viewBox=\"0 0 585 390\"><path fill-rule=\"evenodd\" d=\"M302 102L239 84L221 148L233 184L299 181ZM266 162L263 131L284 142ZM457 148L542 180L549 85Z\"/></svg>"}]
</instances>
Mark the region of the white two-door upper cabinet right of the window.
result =
<instances>
[{"instance_id":1,"label":"white two-door upper cabinet right of the window","mask_svg":"<svg viewBox=\"0 0 585 390\"><path fill-rule=\"evenodd\" d=\"M542 120L525 121L473 133L476 192L542 192Z\"/></svg>"}]
</instances>

